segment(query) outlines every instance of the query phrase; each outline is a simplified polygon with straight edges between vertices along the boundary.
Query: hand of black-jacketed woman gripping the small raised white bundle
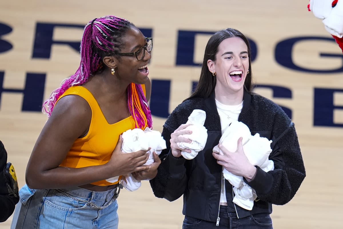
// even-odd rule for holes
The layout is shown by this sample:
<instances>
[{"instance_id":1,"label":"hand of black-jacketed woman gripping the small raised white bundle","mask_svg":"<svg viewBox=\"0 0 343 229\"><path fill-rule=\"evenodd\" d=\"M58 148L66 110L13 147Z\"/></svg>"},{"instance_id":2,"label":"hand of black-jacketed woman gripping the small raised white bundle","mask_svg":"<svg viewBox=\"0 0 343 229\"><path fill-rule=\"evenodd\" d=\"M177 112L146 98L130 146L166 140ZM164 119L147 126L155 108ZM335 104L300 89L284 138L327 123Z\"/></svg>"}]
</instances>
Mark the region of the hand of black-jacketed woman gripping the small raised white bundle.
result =
<instances>
[{"instance_id":1,"label":"hand of black-jacketed woman gripping the small raised white bundle","mask_svg":"<svg viewBox=\"0 0 343 229\"><path fill-rule=\"evenodd\" d=\"M185 143L191 143L192 141L188 138L180 137L180 135L184 134L192 134L191 130L187 130L186 128L190 126L190 124L182 124L177 128L171 135L170 135L170 149L171 153L174 157L178 158L181 157L181 151L185 151L190 153L190 149L181 149L177 143L178 142L185 142Z\"/></svg>"}]
</instances>

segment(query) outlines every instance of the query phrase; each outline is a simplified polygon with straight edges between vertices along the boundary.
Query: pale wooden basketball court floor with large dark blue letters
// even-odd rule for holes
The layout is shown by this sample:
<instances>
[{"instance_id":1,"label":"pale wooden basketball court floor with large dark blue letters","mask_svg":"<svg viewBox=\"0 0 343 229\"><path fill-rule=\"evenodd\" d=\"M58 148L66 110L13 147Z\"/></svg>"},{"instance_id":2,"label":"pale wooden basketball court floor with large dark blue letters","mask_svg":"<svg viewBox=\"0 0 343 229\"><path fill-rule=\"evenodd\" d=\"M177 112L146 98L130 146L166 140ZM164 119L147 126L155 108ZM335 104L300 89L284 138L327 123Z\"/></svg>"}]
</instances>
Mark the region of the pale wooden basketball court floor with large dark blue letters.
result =
<instances>
[{"instance_id":1,"label":"pale wooden basketball court floor with large dark blue letters","mask_svg":"<svg viewBox=\"0 0 343 229\"><path fill-rule=\"evenodd\" d=\"M151 31L154 49L149 77L153 90L159 87L158 83L170 82L169 99L155 95L152 101L164 101L169 113L191 93L200 67L190 63L201 62L210 36L208 33L195 35L194 48L191 47L193 59L185 64L180 33L215 32L233 27L255 42L253 76L256 84L267 85L256 92L292 112L304 158L307 176L291 202L273 207L274 228L342 228L342 53L338 45L327 40L330 35L322 22L307 11L307 4L308 0L1 0L0 139L8 151L8 161L15 167L19 186L25 184L26 164L47 117L23 109L24 95L14 89L25 88L27 73L45 74L43 99L46 99L63 79L75 72L80 61L78 53L65 44L53 44L50 56L39 57L34 45L39 40L37 24L58 24L54 27L54 41L80 41L82 29L63 25L84 26L104 15L126 18ZM12 28L11 32L6 32L8 27ZM9 47L3 40L12 48L3 50ZM320 56L320 53L333 56ZM287 92L282 94L283 98L277 98L280 90ZM320 104L328 104L332 112L325 113ZM154 129L162 131L166 117L156 107L152 114ZM121 229L182 228L182 198L171 203L156 198L149 182L142 182L135 192L123 190L118 203ZM10 228L11 220L12 217L0 223L0 228Z\"/></svg>"}]
</instances>

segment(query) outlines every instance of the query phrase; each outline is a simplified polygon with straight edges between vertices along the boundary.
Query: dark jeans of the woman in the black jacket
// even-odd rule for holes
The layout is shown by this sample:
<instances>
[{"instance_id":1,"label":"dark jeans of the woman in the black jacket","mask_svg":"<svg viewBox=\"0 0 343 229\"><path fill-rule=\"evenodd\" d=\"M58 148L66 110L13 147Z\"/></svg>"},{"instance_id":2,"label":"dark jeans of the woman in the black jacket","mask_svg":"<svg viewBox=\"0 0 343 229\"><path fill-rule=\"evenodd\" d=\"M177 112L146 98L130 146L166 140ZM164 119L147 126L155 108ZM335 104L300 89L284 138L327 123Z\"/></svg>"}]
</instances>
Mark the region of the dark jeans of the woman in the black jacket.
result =
<instances>
[{"instance_id":1,"label":"dark jeans of the woman in the black jacket","mask_svg":"<svg viewBox=\"0 0 343 229\"><path fill-rule=\"evenodd\" d=\"M272 229L272 219L268 213L260 213L251 215L245 218L237 218L236 213L228 213L227 206L220 206L219 211L219 225L216 226L216 222L209 222L185 216L182 229Z\"/></svg>"}]
</instances>

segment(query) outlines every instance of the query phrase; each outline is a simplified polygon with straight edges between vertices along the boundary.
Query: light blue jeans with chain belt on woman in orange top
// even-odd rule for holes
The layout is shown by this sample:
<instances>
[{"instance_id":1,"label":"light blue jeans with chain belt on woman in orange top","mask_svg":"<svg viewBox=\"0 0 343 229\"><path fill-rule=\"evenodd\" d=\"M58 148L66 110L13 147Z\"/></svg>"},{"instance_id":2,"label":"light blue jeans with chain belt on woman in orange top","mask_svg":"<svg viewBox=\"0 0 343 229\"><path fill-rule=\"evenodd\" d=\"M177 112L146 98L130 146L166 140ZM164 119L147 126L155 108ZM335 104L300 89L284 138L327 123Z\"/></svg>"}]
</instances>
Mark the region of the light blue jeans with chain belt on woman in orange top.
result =
<instances>
[{"instance_id":1,"label":"light blue jeans with chain belt on woman in orange top","mask_svg":"<svg viewBox=\"0 0 343 229\"><path fill-rule=\"evenodd\" d=\"M93 192L80 187L19 191L11 229L105 229L118 228L119 188Z\"/></svg>"}]
</instances>

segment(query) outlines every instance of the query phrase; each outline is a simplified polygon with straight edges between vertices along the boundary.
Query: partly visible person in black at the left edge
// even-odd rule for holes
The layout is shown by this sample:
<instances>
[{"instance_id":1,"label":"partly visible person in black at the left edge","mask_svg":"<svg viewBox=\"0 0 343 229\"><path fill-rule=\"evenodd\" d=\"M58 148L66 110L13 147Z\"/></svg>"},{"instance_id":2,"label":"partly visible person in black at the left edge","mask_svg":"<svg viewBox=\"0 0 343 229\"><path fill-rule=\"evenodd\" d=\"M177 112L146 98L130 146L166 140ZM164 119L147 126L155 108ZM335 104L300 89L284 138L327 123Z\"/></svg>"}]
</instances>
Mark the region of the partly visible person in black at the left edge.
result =
<instances>
[{"instance_id":1,"label":"partly visible person in black at the left edge","mask_svg":"<svg viewBox=\"0 0 343 229\"><path fill-rule=\"evenodd\" d=\"M7 162L7 152L0 141L0 222L6 221L13 214L19 201L18 183L11 164Z\"/></svg>"}]
</instances>

